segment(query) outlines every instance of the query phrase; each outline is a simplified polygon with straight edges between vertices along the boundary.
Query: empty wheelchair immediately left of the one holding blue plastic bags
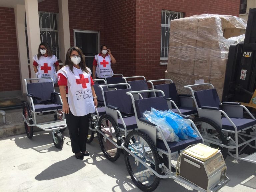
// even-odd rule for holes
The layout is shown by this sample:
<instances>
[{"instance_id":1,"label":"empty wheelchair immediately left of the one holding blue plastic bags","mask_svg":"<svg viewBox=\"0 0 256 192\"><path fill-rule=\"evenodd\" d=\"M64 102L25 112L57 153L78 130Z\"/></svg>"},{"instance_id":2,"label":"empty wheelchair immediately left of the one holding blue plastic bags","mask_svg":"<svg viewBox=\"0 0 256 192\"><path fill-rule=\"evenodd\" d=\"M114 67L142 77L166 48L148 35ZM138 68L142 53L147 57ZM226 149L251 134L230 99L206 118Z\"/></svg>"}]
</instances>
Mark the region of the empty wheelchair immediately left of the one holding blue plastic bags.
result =
<instances>
[{"instance_id":1,"label":"empty wheelchair immediately left of the one holding blue plastic bags","mask_svg":"<svg viewBox=\"0 0 256 192\"><path fill-rule=\"evenodd\" d=\"M108 86L125 86L126 89L104 90ZM110 161L116 161L128 132L137 128L132 101L126 92L131 91L128 83L99 86L102 91L106 114L98 121L97 134L101 150Z\"/></svg>"}]
</instances>

